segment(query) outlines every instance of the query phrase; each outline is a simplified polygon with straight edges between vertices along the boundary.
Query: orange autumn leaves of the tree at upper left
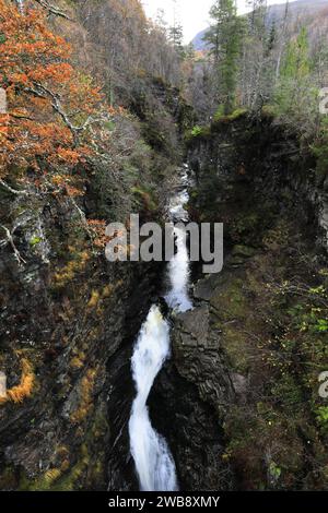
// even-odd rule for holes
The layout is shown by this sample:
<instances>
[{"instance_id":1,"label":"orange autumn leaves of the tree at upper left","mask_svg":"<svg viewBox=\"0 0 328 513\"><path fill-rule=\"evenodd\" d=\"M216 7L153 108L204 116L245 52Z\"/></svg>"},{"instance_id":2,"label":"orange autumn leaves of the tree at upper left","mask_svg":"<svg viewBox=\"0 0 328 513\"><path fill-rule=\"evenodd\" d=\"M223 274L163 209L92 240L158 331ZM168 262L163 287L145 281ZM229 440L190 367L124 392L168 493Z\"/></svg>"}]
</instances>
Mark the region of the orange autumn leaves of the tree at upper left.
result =
<instances>
[{"instance_id":1,"label":"orange autumn leaves of the tree at upper left","mask_svg":"<svg viewBox=\"0 0 328 513\"><path fill-rule=\"evenodd\" d=\"M72 175L91 153L91 128L104 106L99 88L70 58L70 46L34 2L20 12L0 0L0 87L8 98L0 115L0 178L24 180L32 171L35 183L79 193Z\"/></svg>"}]
</instances>

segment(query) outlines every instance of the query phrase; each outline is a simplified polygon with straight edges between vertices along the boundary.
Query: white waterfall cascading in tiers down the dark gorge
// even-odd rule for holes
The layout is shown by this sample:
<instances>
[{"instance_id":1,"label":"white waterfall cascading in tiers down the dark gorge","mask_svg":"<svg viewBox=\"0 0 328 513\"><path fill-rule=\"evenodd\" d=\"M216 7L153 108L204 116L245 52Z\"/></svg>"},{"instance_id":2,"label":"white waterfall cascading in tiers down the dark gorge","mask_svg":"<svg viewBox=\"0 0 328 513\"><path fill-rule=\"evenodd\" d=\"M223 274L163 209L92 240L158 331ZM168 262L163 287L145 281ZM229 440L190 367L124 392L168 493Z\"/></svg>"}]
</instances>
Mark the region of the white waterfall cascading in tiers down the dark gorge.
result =
<instances>
[{"instance_id":1,"label":"white waterfall cascading in tiers down the dark gorge","mask_svg":"<svg viewBox=\"0 0 328 513\"><path fill-rule=\"evenodd\" d=\"M184 205L188 201L188 176L180 174L181 189L172 198L168 216L172 222L187 222ZM188 295L189 258L186 235L175 228L176 252L167 266L169 288L165 300L169 308L185 312L192 308ZM165 439L151 425L147 401L165 360L171 356L169 324L153 305L139 333L133 356L132 375L137 397L129 421L130 450L141 491L175 491L178 489L174 458Z\"/></svg>"}]
</instances>

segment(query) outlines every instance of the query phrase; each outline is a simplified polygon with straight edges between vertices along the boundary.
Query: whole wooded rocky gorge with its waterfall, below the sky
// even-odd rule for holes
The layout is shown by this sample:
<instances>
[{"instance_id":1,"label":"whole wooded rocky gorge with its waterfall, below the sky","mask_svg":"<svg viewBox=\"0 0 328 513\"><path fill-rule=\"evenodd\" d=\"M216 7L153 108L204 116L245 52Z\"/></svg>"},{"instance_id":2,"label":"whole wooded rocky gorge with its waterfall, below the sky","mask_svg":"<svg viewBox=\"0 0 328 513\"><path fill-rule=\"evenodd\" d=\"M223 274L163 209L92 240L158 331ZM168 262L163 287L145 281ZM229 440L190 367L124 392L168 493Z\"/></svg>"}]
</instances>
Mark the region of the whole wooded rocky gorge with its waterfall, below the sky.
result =
<instances>
[{"instance_id":1,"label":"whole wooded rocky gorge with its waterfall, below the sky","mask_svg":"<svg viewBox=\"0 0 328 513\"><path fill-rule=\"evenodd\" d=\"M1 490L328 488L327 13L262 3L221 65L139 0L0 0ZM131 214L223 224L222 271L109 262Z\"/></svg>"}]
</instances>

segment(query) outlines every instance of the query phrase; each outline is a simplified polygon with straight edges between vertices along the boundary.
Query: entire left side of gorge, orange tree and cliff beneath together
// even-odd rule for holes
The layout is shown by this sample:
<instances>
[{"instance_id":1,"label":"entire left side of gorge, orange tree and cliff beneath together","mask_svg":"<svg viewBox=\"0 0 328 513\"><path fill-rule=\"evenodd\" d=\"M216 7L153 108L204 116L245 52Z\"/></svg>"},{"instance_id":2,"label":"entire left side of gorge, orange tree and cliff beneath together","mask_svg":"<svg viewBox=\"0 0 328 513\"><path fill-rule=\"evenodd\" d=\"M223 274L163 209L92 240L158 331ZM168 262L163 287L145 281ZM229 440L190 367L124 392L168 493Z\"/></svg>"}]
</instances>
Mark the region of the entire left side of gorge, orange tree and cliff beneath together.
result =
<instances>
[{"instance_id":1,"label":"entire left side of gorge, orange tree and cliff beneath together","mask_svg":"<svg viewBox=\"0 0 328 513\"><path fill-rule=\"evenodd\" d=\"M133 394L109 419L114 360L157 271L107 263L105 227L161 212L192 117L181 59L137 0L0 1L1 489L108 486Z\"/></svg>"}]
</instances>

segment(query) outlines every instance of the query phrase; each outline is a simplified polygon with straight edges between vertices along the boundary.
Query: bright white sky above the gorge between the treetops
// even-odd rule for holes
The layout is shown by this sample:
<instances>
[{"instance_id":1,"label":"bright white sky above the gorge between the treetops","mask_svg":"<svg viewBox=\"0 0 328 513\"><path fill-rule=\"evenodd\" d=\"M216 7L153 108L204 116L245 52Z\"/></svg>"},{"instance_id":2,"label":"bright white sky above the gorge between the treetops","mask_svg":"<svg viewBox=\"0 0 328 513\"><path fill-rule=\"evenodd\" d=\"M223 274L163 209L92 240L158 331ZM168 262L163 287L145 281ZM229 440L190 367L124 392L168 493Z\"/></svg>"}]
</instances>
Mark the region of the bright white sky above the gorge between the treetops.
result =
<instances>
[{"instance_id":1,"label":"bright white sky above the gorge between the treetops","mask_svg":"<svg viewBox=\"0 0 328 513\"><path fill-rule=\"evenodd\" d=\"M209 11L213 0L176 0L178 19L184 25L185 43L189 43L196 34L209 26ZM239 12L246 12L245 0L237 0ZM284 3L285 0L269 0L268 4ZM155 17L159 9L163 9L169 24L173 24L173 0L142 0L148 16Z\"/></svg>"}]
</instances>

